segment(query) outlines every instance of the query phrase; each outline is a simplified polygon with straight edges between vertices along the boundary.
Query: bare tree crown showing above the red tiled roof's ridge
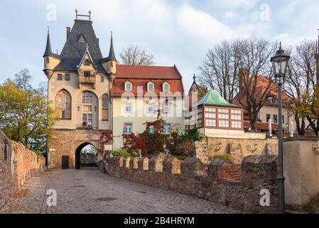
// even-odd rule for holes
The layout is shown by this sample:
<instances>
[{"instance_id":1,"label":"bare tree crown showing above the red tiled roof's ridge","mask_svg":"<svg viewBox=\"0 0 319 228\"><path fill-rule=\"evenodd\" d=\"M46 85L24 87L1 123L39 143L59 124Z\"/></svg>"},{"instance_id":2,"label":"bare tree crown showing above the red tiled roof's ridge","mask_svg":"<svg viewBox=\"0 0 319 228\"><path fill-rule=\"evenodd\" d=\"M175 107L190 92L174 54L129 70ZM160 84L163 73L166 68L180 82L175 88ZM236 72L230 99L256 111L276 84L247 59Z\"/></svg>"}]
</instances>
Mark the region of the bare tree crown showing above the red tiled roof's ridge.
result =
<instances>
[{"instance_id":1,"label":"bare tree crown showing above the red tiled roof's ridge","mask_svg":"<svg viewBox=\"0 0 319 228\"><path fill-rule=\"evenodd\" d=\"M119 53L119 56L121 57L121 62L126 65L155 65L153 61L153 55L146 53L145 48L141 48L139 46L129 46L121 51L121 53Z\"/></svg>"}]
</instances>

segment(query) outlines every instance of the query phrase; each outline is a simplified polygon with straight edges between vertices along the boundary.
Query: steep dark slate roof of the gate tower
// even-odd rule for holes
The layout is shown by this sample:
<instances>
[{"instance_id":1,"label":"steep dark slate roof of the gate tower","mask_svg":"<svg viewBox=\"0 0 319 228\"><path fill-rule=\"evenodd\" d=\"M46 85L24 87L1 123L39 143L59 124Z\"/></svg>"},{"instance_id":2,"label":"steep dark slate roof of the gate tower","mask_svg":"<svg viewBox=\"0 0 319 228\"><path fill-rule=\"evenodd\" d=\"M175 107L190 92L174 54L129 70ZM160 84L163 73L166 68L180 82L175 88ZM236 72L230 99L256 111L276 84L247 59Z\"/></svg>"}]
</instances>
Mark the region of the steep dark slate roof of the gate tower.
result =
<instances>
[{"instance_id":1,"label":"steep dark slate roof of the gate tower","mask_svg":"<svg viewBox=\"0 0 319 228\"><path fill-rule=\"evenodd\" d=\"M87 43L79 42L80 36L85 37ZM85 51L89 46L90 55L97 65L97 72L107 73L99 61L103 58L99 48L99 39L95 36L92 21L75 20L65 46L60 53L61 63L55 67L55 71L77 71Z\"/></svg>"}]
</instances>

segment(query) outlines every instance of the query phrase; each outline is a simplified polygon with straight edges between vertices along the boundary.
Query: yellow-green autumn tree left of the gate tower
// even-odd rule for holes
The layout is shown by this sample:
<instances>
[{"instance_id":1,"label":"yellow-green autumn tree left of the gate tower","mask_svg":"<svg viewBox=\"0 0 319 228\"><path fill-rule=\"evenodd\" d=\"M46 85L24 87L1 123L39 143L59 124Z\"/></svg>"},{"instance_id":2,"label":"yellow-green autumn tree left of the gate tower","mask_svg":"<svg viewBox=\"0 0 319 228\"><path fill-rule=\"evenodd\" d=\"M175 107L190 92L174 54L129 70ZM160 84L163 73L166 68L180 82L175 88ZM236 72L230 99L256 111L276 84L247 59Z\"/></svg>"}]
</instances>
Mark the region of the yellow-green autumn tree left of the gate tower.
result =
<instances>
[{"instance_id":1,"label":"yellow-green autumn tree left of the gate tower","mask_svg":"<svg viewBox=\"0 0 319 228\"><path fill-rule=\"evenodd\" d=\"M28 149L45 152L56 119L44 86L33 88L31 80L24 70L0 85L0 129Z\"/></svg>"}]
</instances>

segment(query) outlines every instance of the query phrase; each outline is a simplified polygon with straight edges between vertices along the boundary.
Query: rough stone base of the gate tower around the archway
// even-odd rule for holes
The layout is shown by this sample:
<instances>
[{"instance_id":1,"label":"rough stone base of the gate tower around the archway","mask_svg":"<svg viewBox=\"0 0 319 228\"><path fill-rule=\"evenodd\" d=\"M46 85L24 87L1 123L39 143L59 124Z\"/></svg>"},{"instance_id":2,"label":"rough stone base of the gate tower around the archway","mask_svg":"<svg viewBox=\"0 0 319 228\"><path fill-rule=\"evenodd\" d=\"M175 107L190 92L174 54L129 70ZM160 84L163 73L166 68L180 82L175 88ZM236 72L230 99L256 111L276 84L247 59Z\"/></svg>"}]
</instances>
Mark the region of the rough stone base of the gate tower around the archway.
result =
<instances>
[{"instance_id":1,"label":"rough stone base of the gate tower around the archway","mask_svg":"<svg viewBox=\"0 0 319 228\"><path fill-rule=\"evenodd\" d=\"M55 130L53 139L49 142L50 148L50 168L60 168L62 157L69 156L70 168L75 168L75 151L83 143L90 143L97 149L99 145L99 130ZM97 161L102 160L102 155L98 154Z\"/></svg>"}]
</instances>

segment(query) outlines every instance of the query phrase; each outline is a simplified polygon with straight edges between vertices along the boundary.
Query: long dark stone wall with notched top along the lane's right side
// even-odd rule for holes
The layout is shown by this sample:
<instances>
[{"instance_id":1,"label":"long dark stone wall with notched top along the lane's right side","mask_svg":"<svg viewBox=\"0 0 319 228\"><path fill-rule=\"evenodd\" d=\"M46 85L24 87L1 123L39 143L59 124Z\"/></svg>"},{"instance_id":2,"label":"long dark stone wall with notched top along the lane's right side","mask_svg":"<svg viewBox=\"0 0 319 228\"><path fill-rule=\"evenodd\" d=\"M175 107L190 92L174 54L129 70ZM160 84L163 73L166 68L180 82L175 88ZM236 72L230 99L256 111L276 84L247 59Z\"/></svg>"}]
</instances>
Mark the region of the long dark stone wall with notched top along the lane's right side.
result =
<instances>
[{"instance_id":1,"label":"long dark stone wall with notched top along the lane's right side","mask_svg":"<svg viewBox=\"0 0 319 228\"><path fill-rule=\"evenodd\" d=\"M162 162L156 163L156 160ZM242 179L239 181L229 180L229 177L238 172L238 166L237 169L234 168L236 166L227 160L215 158L205 166L195 157L177 162L172 157L163 159L163 155L158 155L152 157L149 163L150 168L145 167L148 165L148 159L142 158L136 163L137 168L126 167L123 165L125 164L123 158L112 157L109 159L107 173L113 177L193 195L238 209L276 212L277 157L275 155L254 155L244 158L240 166ZM163 170L159 171L161 167ZM260 191L263 189L270 192L269 207L260 205L259 200L262 197Z\"/></svg>"}]
</instances>

